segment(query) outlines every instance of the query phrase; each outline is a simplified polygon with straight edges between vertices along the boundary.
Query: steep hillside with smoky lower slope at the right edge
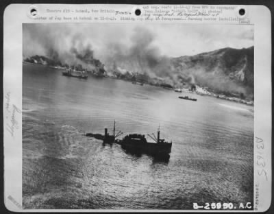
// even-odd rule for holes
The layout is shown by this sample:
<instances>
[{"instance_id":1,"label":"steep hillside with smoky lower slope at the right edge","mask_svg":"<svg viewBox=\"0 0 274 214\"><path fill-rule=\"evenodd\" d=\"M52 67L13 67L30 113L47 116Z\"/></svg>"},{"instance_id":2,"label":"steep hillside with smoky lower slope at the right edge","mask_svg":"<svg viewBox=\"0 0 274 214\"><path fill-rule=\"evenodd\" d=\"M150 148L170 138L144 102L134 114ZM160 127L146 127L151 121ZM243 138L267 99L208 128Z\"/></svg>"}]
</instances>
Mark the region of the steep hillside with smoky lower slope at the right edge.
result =
<instances>
[{"instance_id":1,"label":"steep hillside with smoky lower slope at the right edge","mask_svg":"<svg viewBox=\"0 0 274 214\"><path fill-rule=\"evenodd\" d=\"M254 47L224 48L195 56L172 58L173 72L183 82L207 86L216 92L253 96Z\"/></svg>"}]
</instances>

